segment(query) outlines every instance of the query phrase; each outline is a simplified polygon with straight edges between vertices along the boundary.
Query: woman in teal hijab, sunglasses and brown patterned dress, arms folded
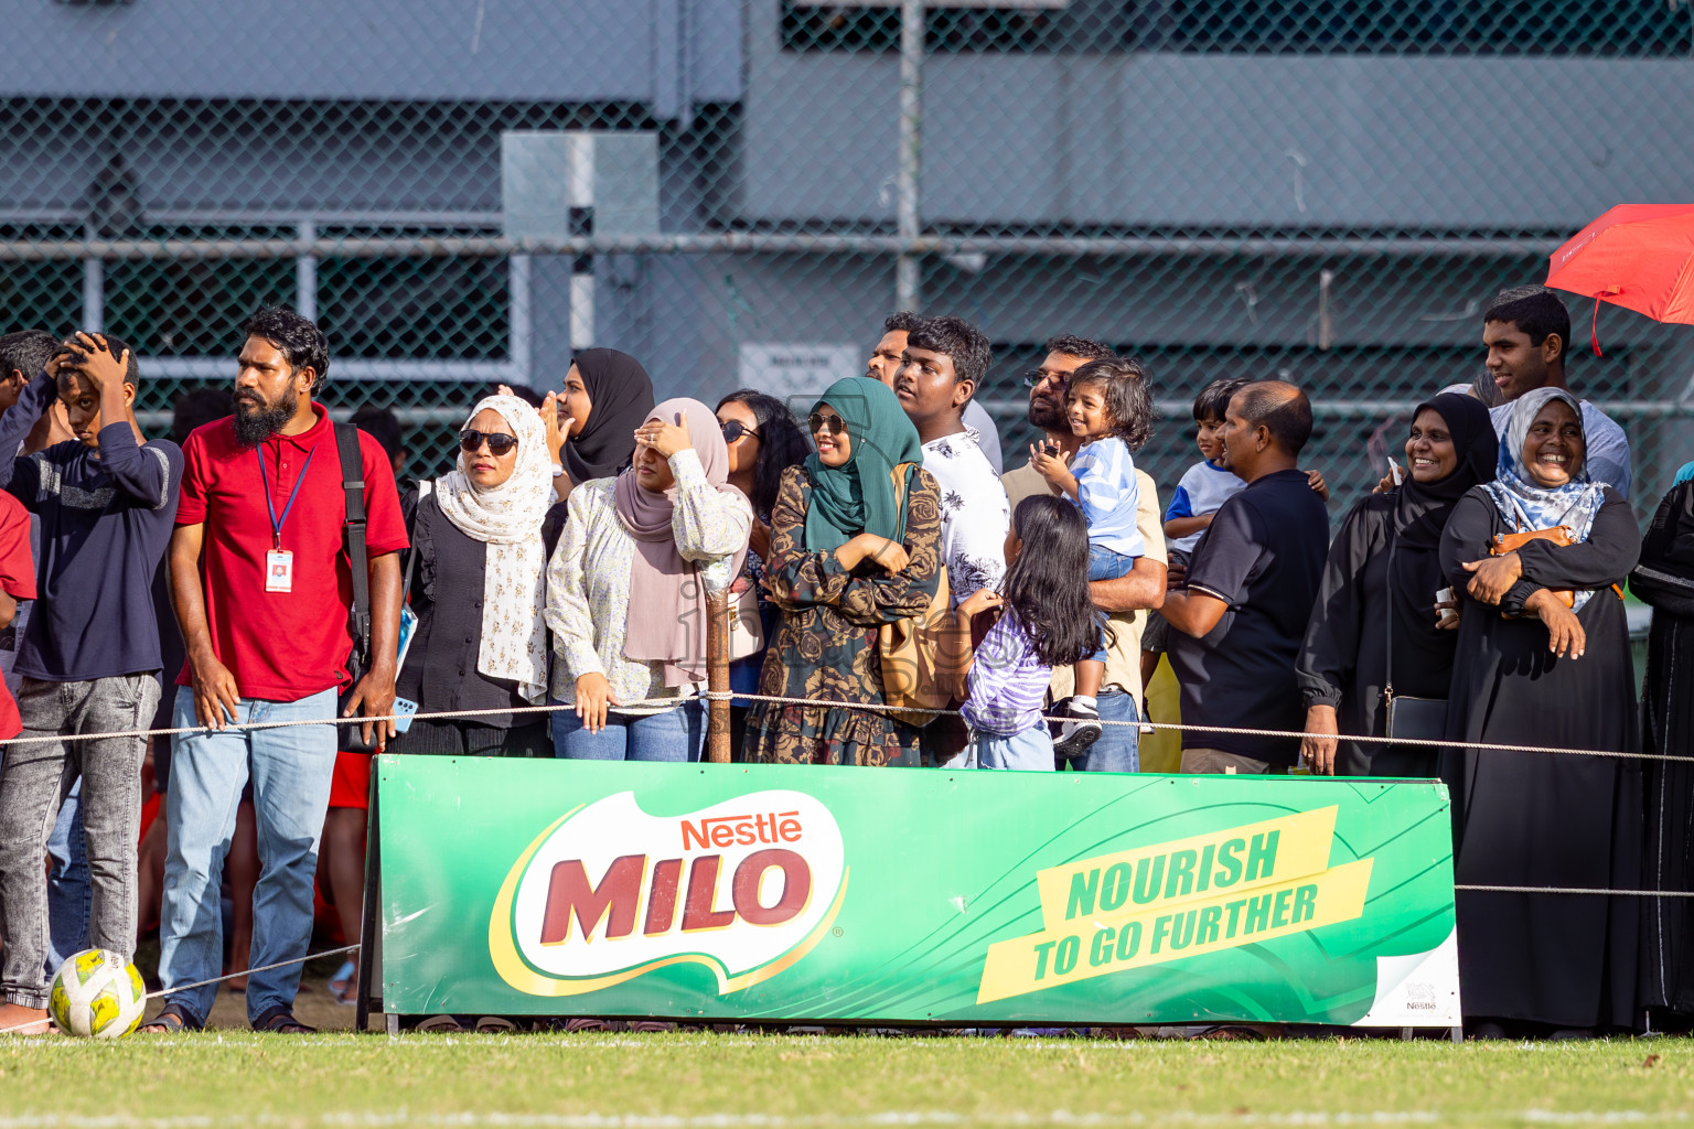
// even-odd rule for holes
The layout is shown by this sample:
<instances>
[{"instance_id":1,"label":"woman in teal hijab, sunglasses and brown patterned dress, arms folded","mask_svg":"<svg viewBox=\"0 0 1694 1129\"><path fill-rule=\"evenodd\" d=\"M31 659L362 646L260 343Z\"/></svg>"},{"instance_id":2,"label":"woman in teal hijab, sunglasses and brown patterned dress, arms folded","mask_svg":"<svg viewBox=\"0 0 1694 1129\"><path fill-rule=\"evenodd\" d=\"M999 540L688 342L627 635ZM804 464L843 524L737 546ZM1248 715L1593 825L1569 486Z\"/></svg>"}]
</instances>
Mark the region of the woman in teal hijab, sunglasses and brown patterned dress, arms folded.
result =
<instances>
[{"instance_id":1,"label":"woman in teal hijab, sunglasses and brown patterned dress, arms folded","mask_svg":"<svg viewBox=\"0 0 1694 1129\"><path fill-rule=\"evenodd\" d=\"M783 474L766 584L783 626L761 692L883 704L877 628L930 606L940 584L940 491L918 430L884 384L830 384L808 416L817 454ZM894 469L905 477L905 504ZM918 730L883 711L757 702L747 760L916 765Z\"/></svg>"}]
</instances>

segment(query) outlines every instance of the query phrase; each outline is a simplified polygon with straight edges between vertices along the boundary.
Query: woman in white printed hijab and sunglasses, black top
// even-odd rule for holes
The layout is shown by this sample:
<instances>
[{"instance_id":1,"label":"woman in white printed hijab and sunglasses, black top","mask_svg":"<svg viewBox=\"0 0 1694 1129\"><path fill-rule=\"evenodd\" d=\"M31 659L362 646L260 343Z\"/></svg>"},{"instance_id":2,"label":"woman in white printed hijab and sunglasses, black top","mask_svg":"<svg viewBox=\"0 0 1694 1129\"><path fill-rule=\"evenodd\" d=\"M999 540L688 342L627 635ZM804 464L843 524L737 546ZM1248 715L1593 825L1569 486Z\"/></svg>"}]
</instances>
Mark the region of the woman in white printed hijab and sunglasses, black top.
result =
<instances>
[{"instance_id":1,"label":"woman in white printed hijab and sunglasses, black top","mask_svg":"<svg viewBox=\"0 0 1694 1129\"><path fill-rule=\"evenodd\" d=\"M552 457L540 416L517 396L488 396L459 432L459 464L420 482L408 582L418 616L395 682L420 713L491 709L473 719L413 721L400 753L549 755L547 606L542 518ZM410 498L408 498L410 501Z\"/></svg>"}]
</instances>

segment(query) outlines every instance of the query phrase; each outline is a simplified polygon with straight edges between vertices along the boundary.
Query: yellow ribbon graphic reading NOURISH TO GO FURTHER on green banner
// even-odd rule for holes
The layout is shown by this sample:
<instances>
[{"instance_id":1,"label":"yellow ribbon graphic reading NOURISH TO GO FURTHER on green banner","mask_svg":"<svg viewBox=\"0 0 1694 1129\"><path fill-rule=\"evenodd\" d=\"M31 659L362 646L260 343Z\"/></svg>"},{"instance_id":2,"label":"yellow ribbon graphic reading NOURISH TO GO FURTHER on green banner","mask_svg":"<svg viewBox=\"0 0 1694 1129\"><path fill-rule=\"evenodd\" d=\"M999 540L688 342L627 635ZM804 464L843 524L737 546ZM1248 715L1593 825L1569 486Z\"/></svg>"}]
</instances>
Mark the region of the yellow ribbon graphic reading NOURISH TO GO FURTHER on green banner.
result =
<instances>
[{"instance_id":1,"label":"yellow ribbon graphic reading NOURISH TO GO FURTHER on green banner","mask_svg":"<svg viewBox=\"0 0 1694 1129\"><path fill-rule=\"evenodd\" d=\"M1037 872L1045 928L988 946L976 1002L1359 917L1372 860L1330 867L1335 814L1321 807Z\"/></svg>"}]
</instances>

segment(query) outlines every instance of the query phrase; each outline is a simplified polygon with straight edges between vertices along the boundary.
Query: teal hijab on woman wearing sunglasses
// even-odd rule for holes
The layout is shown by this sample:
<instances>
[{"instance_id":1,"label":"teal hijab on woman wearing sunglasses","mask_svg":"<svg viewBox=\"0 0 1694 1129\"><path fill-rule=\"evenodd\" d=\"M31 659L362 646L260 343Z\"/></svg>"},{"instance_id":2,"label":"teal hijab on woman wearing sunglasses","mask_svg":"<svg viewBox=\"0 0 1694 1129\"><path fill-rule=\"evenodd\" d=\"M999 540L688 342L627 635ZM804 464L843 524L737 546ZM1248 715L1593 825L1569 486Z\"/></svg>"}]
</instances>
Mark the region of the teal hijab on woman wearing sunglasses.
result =
<instances>
[{"instance_id":1,"label":"teal hijab on woman wearing sunglasses","mask_svg":"<svg viewBox=\"0 0 1694 1129\"><path fill-rule=\"evenodd\" d=\"M811 410L820 411L823 405L847 421L852 454L839 467L823 465L817 454L806 459L811 479L806 552L835 552L859 533L898 537L893 471L901 462L923 462L918 428L911 427L893 389L864 376L835 381Z\"/></svg>"}]
</instances>

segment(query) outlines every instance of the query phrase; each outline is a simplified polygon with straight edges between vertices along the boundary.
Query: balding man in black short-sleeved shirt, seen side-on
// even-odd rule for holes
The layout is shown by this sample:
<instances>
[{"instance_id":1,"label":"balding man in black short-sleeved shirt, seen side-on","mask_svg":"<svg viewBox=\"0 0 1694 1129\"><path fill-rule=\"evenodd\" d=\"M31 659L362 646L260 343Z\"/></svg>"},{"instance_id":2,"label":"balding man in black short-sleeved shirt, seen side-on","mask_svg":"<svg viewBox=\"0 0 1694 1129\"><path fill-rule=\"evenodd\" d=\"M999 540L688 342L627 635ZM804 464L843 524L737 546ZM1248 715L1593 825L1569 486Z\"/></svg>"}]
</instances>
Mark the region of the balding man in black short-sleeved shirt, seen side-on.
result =
<instances>
[{"instance_id":1,"label":"balding man in black short-sleeved shirt, seen side-on","mask_svg":"<svg viewBox=\"0 0 1694 1129\"><path fill-rule=\"evenodd\" d=\"M1311 401L1282 381L1254 381L1230 399L1223 464L1247 482L1211 520L1164 616L1182 687L1182 721L1284 730L1289 738L1182 733L1182 772L1262 774L1299 753L1304 718L1294 658L1318 596L1330 515L1298 471Z\"/></svg>"}]
</instances>

